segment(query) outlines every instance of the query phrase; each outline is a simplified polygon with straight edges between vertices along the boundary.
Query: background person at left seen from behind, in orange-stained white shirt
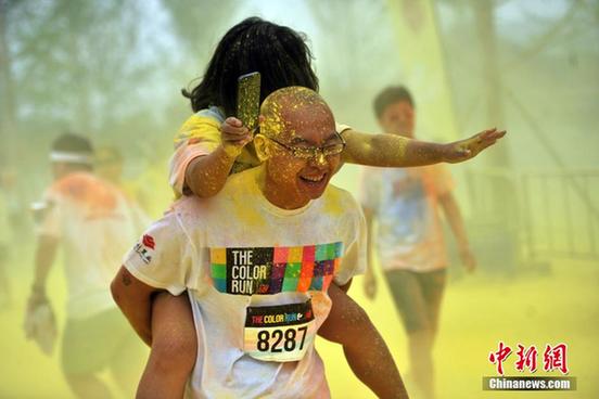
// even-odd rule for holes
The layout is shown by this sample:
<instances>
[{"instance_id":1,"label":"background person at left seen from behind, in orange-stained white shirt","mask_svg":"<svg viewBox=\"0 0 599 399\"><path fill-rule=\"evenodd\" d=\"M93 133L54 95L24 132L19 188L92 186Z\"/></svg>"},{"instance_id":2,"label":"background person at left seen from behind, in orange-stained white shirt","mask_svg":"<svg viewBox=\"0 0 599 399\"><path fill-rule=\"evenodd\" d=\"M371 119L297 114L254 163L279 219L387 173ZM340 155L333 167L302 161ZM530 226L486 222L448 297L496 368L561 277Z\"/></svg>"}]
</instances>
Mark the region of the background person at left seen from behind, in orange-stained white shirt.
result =
<instances>
[{"instance_id":1,"label":"background person at left seen from behind, in orange-stained white shirt","mask_svg":"<svg viewBox=\"0 0 599 399\"><path fill-rule=\"evenodd\" d=\"M39 226L25 333L48 355L55 321L47 295L50 269L63 249L67 279L66 325L61 366L78 398L110 398L99 373L109 369L127 397L132 396L143 360L127 321L112 300L109 286L136 230L128 201L115 185L93 173L93 149L84 137L65 133L52 144L54 181L38 206Z\"/></svg>"}]
</instances>

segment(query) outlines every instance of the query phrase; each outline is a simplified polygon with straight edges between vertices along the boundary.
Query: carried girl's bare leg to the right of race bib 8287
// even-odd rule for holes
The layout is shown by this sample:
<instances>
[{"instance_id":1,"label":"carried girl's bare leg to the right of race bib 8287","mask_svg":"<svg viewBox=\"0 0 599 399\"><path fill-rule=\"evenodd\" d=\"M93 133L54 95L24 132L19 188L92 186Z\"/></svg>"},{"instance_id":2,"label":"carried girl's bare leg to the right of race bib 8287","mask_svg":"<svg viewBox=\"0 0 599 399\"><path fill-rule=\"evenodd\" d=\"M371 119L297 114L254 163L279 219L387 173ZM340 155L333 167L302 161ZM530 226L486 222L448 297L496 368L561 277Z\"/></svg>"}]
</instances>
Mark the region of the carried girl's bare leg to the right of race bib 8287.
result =
<instances>
[{"instance_id":1,"label":"carried girl's bare leg to the right of race bib 8287","mask_svg":"<svg viewBox=\"0 0 599 399\"><path fill-rule=\"evenodd\" d=\"M354 374L379 398L408 398L391 351L368 314L335 284L329 287L329 296L332 308L318 335L343 345Z\"/></svg>"}]
</instances>

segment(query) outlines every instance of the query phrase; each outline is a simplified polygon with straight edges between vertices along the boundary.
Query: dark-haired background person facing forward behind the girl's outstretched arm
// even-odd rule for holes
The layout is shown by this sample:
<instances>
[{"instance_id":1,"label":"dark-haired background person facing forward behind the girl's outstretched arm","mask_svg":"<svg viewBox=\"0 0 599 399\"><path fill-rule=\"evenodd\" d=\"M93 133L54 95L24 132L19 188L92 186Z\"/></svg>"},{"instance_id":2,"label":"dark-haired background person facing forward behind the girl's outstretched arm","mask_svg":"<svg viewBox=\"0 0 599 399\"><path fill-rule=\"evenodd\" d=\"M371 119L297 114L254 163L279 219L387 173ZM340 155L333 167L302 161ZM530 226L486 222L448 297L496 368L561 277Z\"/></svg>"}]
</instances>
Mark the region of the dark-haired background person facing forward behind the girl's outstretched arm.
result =
<instances>
[{"instance_id":1,"label":"dark-haired background person facing forward behind the girl's outstretched arm","mask_svg":"<svg viewBox=\"0 0 599 399\"><path fill-rule=\"evenodd\" d=\"M374 100L374 113L385 133L415 137L415 103L406 88L383 90ZM443 165L370 168L364 175L361 202L369 232L370 265L364 288L369 298L377 295L372 266L378 255L408 334L412 377L425 398L434 397L433 344L447 279L441 213L456 236L466 269L471 272L476 266L453 188Z\"/></svg>"}]
</instances>

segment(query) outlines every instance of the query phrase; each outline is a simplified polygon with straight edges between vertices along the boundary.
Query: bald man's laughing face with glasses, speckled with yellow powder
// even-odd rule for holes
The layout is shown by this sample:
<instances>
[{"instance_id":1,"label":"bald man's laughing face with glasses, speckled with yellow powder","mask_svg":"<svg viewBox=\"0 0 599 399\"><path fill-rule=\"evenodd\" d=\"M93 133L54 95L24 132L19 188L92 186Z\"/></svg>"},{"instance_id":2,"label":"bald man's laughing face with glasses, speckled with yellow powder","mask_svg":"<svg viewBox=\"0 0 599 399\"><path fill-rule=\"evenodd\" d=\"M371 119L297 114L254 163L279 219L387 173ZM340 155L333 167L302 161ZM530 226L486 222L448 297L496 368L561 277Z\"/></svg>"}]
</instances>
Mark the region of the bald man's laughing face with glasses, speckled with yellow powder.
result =
<instances>
[{"instance_id":1,"label":"bald man's laughing face with glasses, speckled with yellow powder","mask_svg":"<svg viewBox=\"0 0 599 399\"><path fill-rule=\"evenodd\" d=\"M333 115L323 104L302 106L285 114L283 131L273 137L280 144L269 142L271 155L267 160L267 176L280 198L303 206L322 195L341 154L326 156L319 150L316 156L305 158L285 146L310 153L309 149L341 144L342 140L335 132Z\"/></svg>"}]
</instances>

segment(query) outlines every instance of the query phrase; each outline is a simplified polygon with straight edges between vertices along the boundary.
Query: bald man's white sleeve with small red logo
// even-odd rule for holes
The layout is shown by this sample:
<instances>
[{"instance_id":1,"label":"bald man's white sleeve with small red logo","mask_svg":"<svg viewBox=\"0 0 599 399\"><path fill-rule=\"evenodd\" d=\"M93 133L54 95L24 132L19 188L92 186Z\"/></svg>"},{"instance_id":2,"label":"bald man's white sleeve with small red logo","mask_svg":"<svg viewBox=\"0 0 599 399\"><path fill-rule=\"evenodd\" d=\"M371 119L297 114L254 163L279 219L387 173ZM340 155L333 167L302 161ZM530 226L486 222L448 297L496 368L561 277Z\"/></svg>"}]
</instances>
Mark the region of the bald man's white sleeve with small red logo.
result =
<instances>
[{"instance_id":1,"label":"bald man's white sleeve with small red logo","mask_svg":"<svg viewBox=\"0 0 599 399\"><path fill-rule=\"evenodd\" d=\"M191 280L191 248L176 211L170 211L150 226L123 265L143 283L179 295Z\"/></svg>"}]
</instances>

